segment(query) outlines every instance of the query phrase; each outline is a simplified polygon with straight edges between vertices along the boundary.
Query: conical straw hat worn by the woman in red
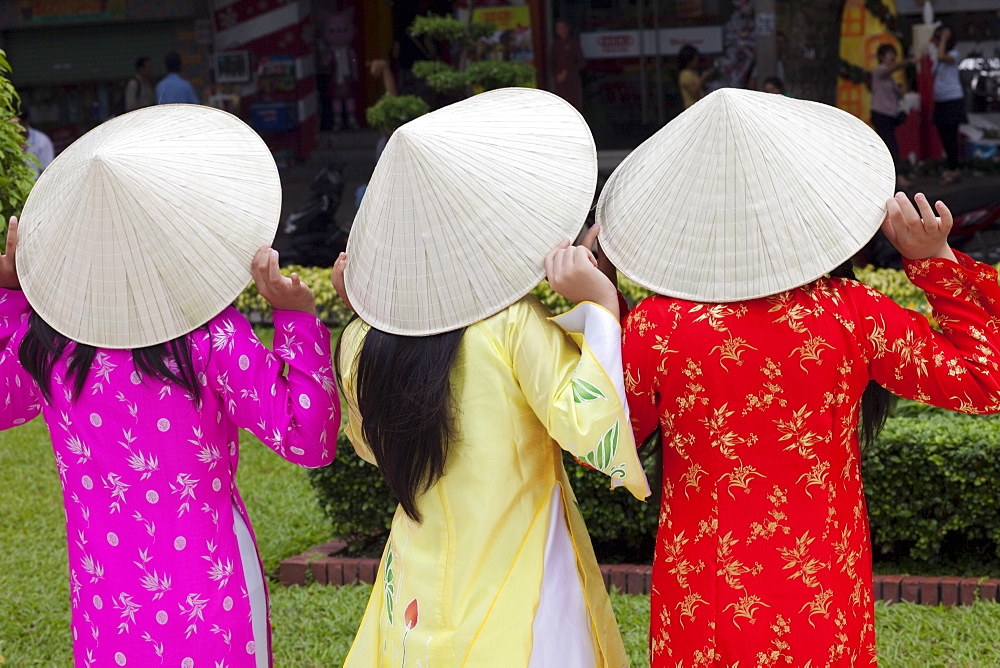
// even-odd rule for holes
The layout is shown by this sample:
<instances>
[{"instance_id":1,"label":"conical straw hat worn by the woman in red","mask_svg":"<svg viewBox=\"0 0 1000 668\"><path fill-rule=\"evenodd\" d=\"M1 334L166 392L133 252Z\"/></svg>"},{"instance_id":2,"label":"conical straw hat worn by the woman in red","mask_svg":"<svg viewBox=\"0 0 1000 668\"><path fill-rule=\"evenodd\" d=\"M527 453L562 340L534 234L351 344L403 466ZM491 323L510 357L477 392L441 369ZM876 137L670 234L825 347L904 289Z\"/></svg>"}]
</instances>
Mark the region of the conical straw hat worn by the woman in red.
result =
<instances>
[{"instance_id":1,"label":"conical straw hat worn by the woman in red","mask_svg":"<svg viewBox=\"0 0 1000 668\"><path fill-rule=\"evenodd\" d=\"M659 294L727 302L836 268L879 228L895 170L834 107L724 88L635 149L601 193L601 246Z\"/></svg>"}]
</instances>

